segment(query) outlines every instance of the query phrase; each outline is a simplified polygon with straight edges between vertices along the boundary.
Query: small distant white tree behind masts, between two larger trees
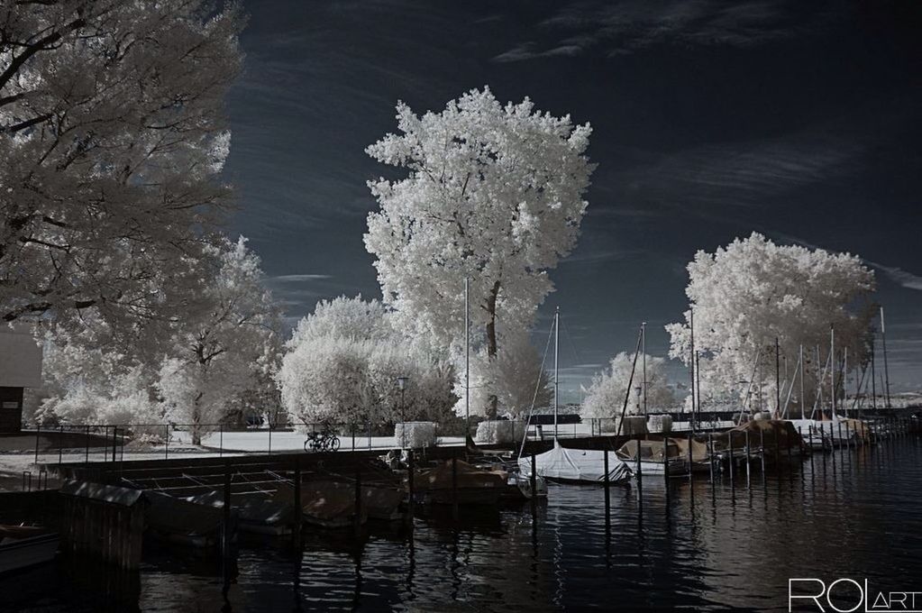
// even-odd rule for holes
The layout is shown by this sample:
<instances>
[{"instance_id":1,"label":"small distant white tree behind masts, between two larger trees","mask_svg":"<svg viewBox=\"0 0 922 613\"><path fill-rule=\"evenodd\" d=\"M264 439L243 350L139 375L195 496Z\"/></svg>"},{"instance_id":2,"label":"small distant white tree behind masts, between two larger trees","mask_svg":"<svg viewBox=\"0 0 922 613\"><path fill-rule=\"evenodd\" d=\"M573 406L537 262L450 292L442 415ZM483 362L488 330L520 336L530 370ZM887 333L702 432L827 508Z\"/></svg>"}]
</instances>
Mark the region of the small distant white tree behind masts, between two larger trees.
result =
<instances>
[{"instance_id":1,"label":"small distant white tree behind masts, between two larger trees","mask_svg":"<svg viewBox=\"0 0 922 613\"><path fill-rule=\"evenodd\" d=\"M611 359L609 368L597 373L586 390L582 414L588 418L615 418L621 415L628 384L632 389L628 395L627 413L643 413L644 378L646 380L646 409L648 413L671 409L675 406L675 394L668 385L666 359L646 356L646 375L642 371L644 356L637 357L634 368L632 353L621 352ZM633 370L633 380L631 372ZM641 395L635 389L641 389ZM638 402L641 403L638 409Z\"/></svg>"}]
</instances>

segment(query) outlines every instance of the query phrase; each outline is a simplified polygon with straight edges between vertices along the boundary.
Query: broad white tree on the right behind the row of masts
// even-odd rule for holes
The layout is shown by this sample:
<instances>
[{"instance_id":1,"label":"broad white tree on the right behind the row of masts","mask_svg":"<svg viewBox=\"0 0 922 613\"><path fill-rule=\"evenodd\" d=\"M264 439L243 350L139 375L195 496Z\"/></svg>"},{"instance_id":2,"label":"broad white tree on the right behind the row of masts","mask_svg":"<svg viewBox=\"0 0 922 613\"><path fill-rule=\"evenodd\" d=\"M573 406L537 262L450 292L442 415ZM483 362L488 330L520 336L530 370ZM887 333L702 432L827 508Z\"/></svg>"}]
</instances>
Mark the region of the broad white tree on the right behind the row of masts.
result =
<instances>
[{"instance_id":1,"label":"broad white tree on the right behind the row of masts","mask_svg":"<svg viewBox=\"0 0 922 613\"><path fill-rule=\"evenodd\" d=\"M779 358L787 365L782 402L803 346L809 409L829 359L831 326L834 369L841 368L845 348L851 364L868 360L874 274L857 255L778 245L754 232L715 253L696 253L688 271L685 293L694 311L694 347L702 354L699 375L708 395L734 394L746 400L751 390L757 405L762 398L762 407L774 409L777 339ZM691 312L685 312L684 323L666 329L669 356L689 365ZM784 371L779 378L785 379ZM793 391L795 406L801 404L798 396L799 381ZM828 390L824 397L830 397Z\"/></svg>"}]
</instances>

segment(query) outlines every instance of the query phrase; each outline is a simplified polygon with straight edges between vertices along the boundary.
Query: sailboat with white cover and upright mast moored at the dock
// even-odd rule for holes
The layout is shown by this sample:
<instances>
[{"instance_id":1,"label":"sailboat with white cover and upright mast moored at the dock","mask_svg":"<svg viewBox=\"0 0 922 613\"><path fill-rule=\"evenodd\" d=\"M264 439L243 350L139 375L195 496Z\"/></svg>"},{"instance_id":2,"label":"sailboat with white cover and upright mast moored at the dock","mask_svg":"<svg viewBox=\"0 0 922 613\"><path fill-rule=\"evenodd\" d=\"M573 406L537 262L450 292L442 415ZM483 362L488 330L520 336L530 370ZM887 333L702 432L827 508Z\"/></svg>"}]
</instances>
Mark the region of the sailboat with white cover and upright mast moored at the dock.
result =
<instances>
[{"instance_id":1,"label":"sailboat with white cover and upright mast moored at the dock","mask_svg":"<svg viewBox=\"0 0 922 613\"><path fill-rule=\"evenodd\" d=\"M613 451L601 449L568 449L562 447L557 438L557 411L559 403L559 358L561 310L554 313L554 446L543 454L535 456L535 473L557 483L601 485L630 483L632 471ZM524 445L524 443L523 443ZM531 477L532 458L519 455L519 470L524 477Z\"/></svg>"}]
</instances>

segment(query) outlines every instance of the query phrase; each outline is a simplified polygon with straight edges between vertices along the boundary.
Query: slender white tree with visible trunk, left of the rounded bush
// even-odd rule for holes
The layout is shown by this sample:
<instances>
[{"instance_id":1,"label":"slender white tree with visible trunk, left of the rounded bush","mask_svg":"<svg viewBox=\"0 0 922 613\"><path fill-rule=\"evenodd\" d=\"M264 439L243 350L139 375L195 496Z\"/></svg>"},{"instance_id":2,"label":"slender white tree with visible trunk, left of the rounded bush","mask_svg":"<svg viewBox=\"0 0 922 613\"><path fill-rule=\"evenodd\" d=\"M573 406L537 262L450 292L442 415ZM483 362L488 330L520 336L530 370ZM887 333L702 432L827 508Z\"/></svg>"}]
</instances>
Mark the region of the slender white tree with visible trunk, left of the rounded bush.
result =
<instances>
[{"instance_id":1,"label":"slender white tree with visible trunk, left of the rounded bush","mask_svg":"<svg viewBox=\"0 0 922 613\"><path fill-rule=\"evenodd\" d=\"M280 350L278 308L246 240L205 253L195 268L199 292L175 322L157 383L168 418L188 425L195 444L227 417L233 400L271 381L259 375Z\"/></svg>"}]
</instances>

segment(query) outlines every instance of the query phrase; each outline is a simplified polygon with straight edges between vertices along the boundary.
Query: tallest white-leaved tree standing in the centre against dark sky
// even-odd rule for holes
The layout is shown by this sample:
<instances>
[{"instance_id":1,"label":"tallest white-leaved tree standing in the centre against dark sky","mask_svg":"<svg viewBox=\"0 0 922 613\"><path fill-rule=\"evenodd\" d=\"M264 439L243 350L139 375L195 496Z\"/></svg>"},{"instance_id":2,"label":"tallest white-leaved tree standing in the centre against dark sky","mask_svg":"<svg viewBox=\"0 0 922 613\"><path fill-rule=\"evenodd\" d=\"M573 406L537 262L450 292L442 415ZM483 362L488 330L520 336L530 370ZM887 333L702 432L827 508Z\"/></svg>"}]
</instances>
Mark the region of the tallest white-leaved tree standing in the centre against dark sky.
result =
<instances>
[{"instance_id":1,"label":"tallest white-leaved tree standing in the centre against dark sky","mask_svg":"<svg viewBox=\"0 0 922 613\"><path fill-rule=\"evenodd\" d=\"M521 335L553 289L548 277L573 249L594 165L591 129L535 109L502 105L489 88L443 112L396 108L399 134L366 150L407 176L369 183L380 210L365 245L384 302L443 345L463 343L464 279L473 336L495 360L502 336ZM499 391L488 395L495 415Z\"/></svg>"}]
</instances>

